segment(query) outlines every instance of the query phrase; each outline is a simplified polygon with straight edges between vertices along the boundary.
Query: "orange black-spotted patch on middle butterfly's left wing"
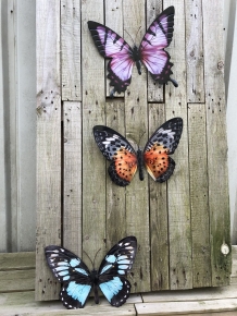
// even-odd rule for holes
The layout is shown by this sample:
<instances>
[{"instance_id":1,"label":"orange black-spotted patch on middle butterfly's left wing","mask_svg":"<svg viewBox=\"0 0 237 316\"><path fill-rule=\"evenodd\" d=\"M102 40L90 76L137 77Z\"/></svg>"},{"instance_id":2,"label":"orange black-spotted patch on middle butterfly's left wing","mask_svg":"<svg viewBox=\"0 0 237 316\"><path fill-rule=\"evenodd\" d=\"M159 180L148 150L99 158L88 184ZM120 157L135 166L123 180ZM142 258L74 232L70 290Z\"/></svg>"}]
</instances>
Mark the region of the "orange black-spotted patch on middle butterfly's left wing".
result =
<instances>
[{"instance_id":1,"label":"orange black-spotted patch on middle butterfly's left wing","mask_svg":"<svg viewBox=\"0 0 237 316\"><path fill-rule=\"evenodd\" d=\"M117 177L130 182L137 171L137 157L124 147L121 147L113 156L113 159Z\"/></svg>"}]
</instances>

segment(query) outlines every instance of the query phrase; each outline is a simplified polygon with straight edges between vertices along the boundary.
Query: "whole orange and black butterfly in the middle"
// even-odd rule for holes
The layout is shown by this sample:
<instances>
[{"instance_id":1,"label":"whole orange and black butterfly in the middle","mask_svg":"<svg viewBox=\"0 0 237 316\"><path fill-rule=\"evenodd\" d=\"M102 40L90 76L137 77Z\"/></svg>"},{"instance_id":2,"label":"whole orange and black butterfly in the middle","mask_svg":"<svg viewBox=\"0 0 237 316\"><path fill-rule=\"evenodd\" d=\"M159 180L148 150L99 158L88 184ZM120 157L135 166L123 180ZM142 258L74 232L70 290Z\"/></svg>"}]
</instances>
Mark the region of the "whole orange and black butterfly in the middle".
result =
<instances>
[{"instance_id":1,"label":"whole orange and black butterfly in the middle","mask_svg":"<svg viewBox=\"0 0 237 316\"><path fill-rule=\"evenodd\" d=\"M137 153L124 136L108 126L93 126L93 136L103 156L112 161L108 169L111 180L126 186L137 168L139 179L144 180L144 165L154 181L166 181L175 169L175 161L170 155L177 148L182 131L183 119L171 119L153 133L144 151L138 148Z\"/></svg>"}]
</instances>

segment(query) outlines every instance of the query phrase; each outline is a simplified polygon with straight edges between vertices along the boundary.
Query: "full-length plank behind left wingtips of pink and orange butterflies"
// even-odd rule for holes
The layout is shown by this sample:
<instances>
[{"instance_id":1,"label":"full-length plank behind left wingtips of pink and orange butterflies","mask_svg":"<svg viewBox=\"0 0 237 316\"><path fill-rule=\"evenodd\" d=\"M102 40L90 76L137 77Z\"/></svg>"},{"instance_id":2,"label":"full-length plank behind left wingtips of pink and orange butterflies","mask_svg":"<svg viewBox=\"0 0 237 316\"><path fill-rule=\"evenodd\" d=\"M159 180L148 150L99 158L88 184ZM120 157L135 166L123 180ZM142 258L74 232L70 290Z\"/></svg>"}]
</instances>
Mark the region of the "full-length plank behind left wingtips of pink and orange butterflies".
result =
<instances>
[{"instance_id":1,"label":"full-length plank behind left wingtips of pink and orange butterflies","mask_svg":"<svg viewBox=\"0 0 237 316\"><path fill-rule=\"evenodd\" d=\"M105 159L96 145L92 127L105 123L104 60L93 47L87 26L89 20L103 23L102 1L82 3L83 250L93 259L101 248L97 256L97 263L101 263L105 254ZM90 267L87 256L84 259Z\"/></svg>"}]
</instances>

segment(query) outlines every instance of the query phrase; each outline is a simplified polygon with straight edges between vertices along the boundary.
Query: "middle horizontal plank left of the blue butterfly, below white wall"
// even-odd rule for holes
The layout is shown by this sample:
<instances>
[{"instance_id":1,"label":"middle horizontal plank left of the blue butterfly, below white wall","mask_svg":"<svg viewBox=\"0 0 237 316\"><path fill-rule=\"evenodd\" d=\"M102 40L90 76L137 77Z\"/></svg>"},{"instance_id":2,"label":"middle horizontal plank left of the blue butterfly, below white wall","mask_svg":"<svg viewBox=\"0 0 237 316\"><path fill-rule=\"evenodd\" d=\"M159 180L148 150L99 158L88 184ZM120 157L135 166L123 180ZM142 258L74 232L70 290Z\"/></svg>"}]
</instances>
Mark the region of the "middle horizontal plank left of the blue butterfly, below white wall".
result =
<instances>
[{"instance_id":1,"label":"middle horizontal plank left of the blue butterfly, below white wall","mask_svg":"<svg viewBox=\"0 0 237 316\"><path fill-rule=\"evenodd\" d=\"M0 292L35 290L35 269L0 271Z\"/></svg>"}]
</instances>

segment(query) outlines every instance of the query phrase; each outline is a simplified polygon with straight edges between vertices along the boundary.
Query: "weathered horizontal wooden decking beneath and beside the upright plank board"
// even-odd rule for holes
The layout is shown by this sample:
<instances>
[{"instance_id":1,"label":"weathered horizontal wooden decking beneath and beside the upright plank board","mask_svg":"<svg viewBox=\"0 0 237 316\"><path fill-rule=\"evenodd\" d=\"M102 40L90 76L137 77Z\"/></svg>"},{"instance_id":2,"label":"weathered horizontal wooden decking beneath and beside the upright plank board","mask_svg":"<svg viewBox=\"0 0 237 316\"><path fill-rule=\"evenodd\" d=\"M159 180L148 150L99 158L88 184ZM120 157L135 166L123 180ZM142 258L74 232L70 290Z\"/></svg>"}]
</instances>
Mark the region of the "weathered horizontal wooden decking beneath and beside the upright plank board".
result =
<instances>
[{"instance_id":1,"label":"weathered horizontal wooden decking beneath and beside the upright plank board","mask_svg":"<svg viewBox=\"0 0 237 316\"><path fill-rule=\"evenodd\" d=\"M67 311L60 301L35 302L35 253L0 254L0 315L237 315L237 246L233 246L232 284L184 291L132 294L115 308L89 299L85 308Z\"/></svg>"}]
</instances>

